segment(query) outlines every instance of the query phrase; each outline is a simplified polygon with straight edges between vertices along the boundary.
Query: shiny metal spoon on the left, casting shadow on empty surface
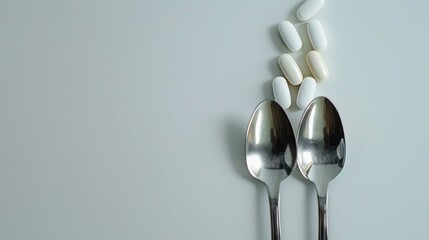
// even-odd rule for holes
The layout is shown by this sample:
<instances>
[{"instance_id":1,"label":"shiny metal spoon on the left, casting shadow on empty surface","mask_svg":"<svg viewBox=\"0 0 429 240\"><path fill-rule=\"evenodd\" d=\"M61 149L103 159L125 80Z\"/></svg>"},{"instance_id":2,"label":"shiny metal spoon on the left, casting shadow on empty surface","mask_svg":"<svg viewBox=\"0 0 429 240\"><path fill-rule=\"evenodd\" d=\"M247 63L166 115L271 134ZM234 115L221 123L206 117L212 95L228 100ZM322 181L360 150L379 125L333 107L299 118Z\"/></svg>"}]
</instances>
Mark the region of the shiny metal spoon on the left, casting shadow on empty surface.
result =
<instances>
[{"instance_id":1,"label":"shiny metal spoon on the left, casting shadow on empty surface","mask_svg":"<svg viewBox=\"0 0 429 240\"><path fill-rule=\"evenodd\" d=\"M265 183L271 215L271 239L280 240L280 182L295 168L296 142L286 113L275 101L261 102L253 112L246 134L247 168Z\"/></svg>"}]
</instances>

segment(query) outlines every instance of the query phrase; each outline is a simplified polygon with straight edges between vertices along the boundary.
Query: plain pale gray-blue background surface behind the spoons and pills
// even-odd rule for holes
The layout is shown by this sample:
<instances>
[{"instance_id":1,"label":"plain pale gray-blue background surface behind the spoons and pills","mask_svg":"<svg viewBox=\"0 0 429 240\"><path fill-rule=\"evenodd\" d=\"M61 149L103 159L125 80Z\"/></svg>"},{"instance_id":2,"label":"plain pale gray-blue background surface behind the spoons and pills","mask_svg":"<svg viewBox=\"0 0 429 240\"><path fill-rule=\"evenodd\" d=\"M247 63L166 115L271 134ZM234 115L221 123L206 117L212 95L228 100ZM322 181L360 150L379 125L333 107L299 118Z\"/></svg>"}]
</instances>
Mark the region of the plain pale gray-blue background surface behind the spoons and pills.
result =
<instances>
[{"instance_id":1,"label":"plain pale gray-blue background surface behind the spoons and pills","mask_svg":"<svg viewBox=\"0 0 429 240\"><path fill-rule=\"evenodd\" d=\"M0 239L269 239L244 137L302 2L2 0ZM427 235L428 8L327 0L316 16L317 95L347 141L332 240ZM283 238L316 239L312 185L296 171L281 194Z\"/></svg>"}]
</instances>

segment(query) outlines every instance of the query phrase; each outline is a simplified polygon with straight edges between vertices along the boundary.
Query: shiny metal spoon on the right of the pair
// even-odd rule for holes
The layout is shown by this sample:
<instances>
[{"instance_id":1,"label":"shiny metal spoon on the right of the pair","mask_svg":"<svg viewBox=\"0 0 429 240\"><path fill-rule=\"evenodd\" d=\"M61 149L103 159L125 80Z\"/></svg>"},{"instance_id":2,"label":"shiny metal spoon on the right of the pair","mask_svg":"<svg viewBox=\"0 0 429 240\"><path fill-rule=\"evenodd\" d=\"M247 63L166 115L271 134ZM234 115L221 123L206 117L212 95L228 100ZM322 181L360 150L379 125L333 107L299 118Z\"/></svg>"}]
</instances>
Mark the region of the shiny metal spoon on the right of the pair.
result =
<instances>
[{"instance_id":1,"label":"shiny metal spoon on the right of the pair","mask_svg":"<svg viewBox=\"0 0 429 240\"><path fill-rule=\"evenodd\" d=\"M317 190L319 240L327 240L328 184L343 169L346 156L343 125L329 99L318 97L308 105L297 138L299 169Z\"/></svg>"}]
</instances>

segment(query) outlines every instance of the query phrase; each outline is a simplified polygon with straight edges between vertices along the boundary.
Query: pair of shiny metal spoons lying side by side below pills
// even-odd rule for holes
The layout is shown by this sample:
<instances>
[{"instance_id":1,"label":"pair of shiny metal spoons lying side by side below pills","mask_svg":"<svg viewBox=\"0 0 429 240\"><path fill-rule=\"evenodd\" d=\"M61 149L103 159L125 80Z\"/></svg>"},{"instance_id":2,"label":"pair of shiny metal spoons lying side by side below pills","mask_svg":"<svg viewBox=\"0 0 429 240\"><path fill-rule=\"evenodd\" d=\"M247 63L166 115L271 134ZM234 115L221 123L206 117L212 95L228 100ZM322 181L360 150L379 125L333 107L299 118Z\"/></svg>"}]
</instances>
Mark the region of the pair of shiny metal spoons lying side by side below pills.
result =
<instances>
[{"instance_id":1,"label":"pair of shiny metal spoons lying side by side below pills","mask_svg":"<svg viewBox=\"0 0 429 240\"><path fill-rule=\"evenodd\" d=\"M275 101L261 102L253 112L246 134L246 162L253 177L265 183L271 219L271 239L280 240L280 182L297 164L314 183L319 203L319 240L328 239L328 184L342 170L346 144L340 115L325 97L315 98L304 110L295 141L283 108Z\"/></svg>"}]
</instances>

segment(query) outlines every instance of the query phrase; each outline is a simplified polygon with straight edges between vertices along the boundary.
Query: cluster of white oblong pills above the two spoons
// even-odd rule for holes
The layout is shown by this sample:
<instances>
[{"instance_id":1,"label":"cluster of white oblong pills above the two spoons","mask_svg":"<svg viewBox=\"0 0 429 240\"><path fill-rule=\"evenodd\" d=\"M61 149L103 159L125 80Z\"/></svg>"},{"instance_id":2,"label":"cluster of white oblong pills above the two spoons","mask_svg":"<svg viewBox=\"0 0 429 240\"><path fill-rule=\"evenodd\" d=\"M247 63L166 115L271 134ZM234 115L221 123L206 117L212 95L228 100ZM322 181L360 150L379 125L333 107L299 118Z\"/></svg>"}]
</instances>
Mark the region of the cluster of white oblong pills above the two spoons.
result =
<instances>
[{"instance_id":1,"label":"cluster of white oblong pills above the two spoons","mask_svg":"<svg viewBox=\"0 0 429 240\"><path fill-rule=\"evenodd\" d=\"M276 77L272 82L275 100L284 108L291 105L291 96L288 83L299 86L296 105L298 108L305 108L313 99L317 82L322 82L329 77L325 60L320 54L327 47L325 30L316 19L311 19L322 8L324 0L306 0L299 7L296 16L299 21L306 22L308 38L314 50L307 53L306 62L312 76L303 77L301 69L290 54L282 54L278 59L280 69L284 77ZM279 33L286 47L291 52L299 51L302 48L301 37L295 26L290 21L283 21L278 27Z\"/></svg>"}]
</instances>

